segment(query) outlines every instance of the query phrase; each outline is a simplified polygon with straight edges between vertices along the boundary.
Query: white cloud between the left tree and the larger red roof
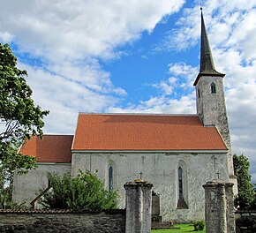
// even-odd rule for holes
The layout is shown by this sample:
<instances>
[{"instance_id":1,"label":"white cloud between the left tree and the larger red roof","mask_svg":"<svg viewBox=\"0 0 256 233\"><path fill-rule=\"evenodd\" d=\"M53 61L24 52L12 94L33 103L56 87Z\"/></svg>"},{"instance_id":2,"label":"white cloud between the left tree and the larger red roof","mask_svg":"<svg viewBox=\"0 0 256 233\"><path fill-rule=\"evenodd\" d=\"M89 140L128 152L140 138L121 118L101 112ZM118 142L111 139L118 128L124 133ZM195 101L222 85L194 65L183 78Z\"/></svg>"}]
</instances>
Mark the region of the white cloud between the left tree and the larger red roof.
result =
<instances>
[{"instance_id":1,"label":"white cloud between the left tree and the larger red roof","mask_svg":"<svg viewBox=\"0 0 256 233\"><path fill-rule=\"evenodd\" d=\"M88 88L76 79L24 64L22 68L28 71L28 85L36 90L33 94L36 104L50 111L45 119L46 133L73 133L79 111L102 112L106 106L115 105L118 101L112 93ZM118 91L122 93L117 88Z\"/></svg>"}]
</instances>

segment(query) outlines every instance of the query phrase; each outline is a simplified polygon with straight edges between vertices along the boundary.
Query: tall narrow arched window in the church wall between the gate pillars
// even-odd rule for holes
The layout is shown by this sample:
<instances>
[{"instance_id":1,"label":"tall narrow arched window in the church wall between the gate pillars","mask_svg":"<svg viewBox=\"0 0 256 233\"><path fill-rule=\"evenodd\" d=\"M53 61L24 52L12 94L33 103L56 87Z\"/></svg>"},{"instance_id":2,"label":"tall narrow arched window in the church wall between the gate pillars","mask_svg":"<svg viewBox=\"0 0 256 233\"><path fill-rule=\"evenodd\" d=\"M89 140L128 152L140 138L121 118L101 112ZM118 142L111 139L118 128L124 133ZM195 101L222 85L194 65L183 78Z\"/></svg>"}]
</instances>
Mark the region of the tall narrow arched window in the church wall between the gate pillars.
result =
<instances>
[{"instance_id":1,"label":"tall narrow arched window in the church wall between the gate pillars","mask_svg":"<svg viewBox=\"0 0 256 233\"><path fill-rule=\"evenodd\" d=\"M188 208L187 200L186 166L183 161L180 161L177 168L177 208Z\"/></svg>"}]
</instances>

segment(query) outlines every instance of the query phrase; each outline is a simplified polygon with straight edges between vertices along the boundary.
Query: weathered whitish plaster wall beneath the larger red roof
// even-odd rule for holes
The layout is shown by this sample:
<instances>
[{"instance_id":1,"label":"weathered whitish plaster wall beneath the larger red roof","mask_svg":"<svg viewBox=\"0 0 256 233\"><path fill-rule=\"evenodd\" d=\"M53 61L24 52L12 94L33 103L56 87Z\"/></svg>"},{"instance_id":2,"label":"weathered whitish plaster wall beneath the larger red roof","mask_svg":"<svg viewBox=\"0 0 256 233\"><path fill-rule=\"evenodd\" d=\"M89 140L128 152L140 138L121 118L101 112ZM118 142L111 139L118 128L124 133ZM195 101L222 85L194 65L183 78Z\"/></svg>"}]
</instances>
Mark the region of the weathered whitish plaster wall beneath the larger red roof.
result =
<instances>
[{"instance_id":1,"label":"weathered whitish plaster wall beneath the larger red roof","mask_svg":"<svg viewBox=\"0 0 256 233\"><path fill-rule=\"evenodd\" d=\"M186 182L184 192L187 193L188 209L177 209L178 164L183 161L186 166ZM120 192L120 207L124 207L124 184L139 178L154 184L154 192L160 194L161 214L164 221L179 220L181 222L204 219L204 190L202 184L217 178L229 180L227 154L213 153L102 153L72 155L72 175L79 169L94 172L108 186L108 164L116 164L114 169L114 186ZM185 172L184 172L185 173ZM185 196L185 193L184 193Z\"/></svg>"}]
</instances>

